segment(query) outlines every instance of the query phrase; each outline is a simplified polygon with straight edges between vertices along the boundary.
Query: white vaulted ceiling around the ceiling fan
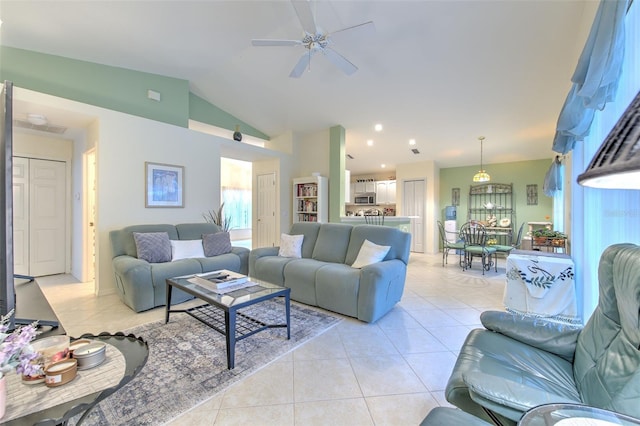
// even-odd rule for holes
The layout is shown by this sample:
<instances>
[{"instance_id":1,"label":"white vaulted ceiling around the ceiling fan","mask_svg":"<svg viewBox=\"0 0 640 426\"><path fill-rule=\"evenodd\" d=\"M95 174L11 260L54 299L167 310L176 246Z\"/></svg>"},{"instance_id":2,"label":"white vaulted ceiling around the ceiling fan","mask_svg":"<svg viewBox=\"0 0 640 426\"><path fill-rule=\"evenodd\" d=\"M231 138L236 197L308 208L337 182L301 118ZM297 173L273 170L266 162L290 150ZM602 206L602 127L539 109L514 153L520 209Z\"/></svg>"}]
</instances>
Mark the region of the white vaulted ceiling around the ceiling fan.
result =
<instances>
[{"instance_id":1,"label":"white vaulted ceiling around the ceiling fan","mask_svg":"<svg viewBox=\"0 0 640 426\"><path fill-rule=\"evenodd\" d=\"M342 125L354 157L347 168L362 174L382 163L387 170L426 160L476 165L480 135L485 163L552 158L556 119L595 7L585 0L312 3L327 32L373 21L375 31L333 36L335 51L358 67L352 75L318 54L290 78L303 47L252 45L302 39L284 0L2 0L0 43L186 79L193 93L270 136Z\"/></svg>"}]
</instances>

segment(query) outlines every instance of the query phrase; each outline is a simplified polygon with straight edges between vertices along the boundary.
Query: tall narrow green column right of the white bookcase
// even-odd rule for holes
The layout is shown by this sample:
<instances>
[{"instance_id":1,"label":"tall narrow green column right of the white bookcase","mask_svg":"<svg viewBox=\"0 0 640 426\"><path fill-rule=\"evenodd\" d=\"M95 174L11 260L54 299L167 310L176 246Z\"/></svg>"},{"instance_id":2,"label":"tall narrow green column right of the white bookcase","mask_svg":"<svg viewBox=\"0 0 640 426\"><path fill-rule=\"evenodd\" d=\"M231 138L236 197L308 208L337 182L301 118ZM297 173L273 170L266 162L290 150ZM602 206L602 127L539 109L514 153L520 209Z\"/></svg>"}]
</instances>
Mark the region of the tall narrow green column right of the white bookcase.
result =
<instances>
[{"instance_id":1,"label":"tall narrow green column right of the white bookcase","mask_svg":"<svg viewBox=\"0 0 640 426\"><path fill-rule=\"evenodd\" d=\"M329 129L329 222L340 222L344 216L345 130Z\"/></svg>"}]
</instances>

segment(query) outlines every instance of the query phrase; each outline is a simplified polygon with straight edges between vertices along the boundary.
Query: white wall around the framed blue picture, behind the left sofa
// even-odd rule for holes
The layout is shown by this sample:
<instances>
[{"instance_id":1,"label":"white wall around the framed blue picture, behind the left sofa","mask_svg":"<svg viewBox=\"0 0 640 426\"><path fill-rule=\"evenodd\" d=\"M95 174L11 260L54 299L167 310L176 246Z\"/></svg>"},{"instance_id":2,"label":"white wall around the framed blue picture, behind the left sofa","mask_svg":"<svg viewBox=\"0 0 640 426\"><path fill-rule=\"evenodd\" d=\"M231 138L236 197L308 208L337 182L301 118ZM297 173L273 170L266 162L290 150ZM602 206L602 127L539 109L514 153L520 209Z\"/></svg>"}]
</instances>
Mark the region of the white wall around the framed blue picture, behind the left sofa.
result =
<instances>
[{"instance_id":1,"label":"white wall around the framed blue picture, behind the left sofa","mask_svg":"<svg viewBox=\"0 0 640 426\"><path fill-rule=\"evenodd\" d=\"M96 293L99 295L115 291L109 231L135 224L204 221L202 214L219 204L222 150L237 152L238 158L246 161L252 160L249 157L283 156L218 136L30 90L15 88L14 96L26 102L64 109L69 114L96 117L97 123L89 127L86 145L76 146L74 155L80 156L92 146L96 147ZM247 155L240 158L243 152ZM145 208L146 161L184 167L184 208ZM289 181L289 167L284 168L282 177ZM74 175L74 184L81 182L79 179ZM286 187L288 193L288 182ZM77 191L74 189L74 192ZM78 201L85 205L83 195L82 191ZM74 241L76 233L84 235L83 228L82 216L74 216ZM82 264L82 256L82 250L74 250L73 264Z\"/></svg>"}]
</instances>

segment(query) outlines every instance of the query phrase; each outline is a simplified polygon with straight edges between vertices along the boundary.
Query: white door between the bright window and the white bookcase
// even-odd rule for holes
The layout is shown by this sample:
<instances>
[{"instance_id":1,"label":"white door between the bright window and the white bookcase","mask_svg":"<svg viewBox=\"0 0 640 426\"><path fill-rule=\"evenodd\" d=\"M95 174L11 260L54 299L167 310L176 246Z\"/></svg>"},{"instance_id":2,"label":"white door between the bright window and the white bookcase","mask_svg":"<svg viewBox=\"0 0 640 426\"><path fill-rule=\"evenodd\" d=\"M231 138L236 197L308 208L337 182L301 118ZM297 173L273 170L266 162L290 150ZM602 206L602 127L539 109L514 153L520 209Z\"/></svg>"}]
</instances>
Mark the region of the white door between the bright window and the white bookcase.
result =
<instances>
[{"instance_id":1,"label":"white door between the bright window and the white bookcase","mask_svg":"<svg viewBox=\"0 0 640 426\"><path fill-rule=\"evenodd\" d=\"M256 241L253 247L276 245L276 174L258 175Z\"/></svg>"}]
</instances>

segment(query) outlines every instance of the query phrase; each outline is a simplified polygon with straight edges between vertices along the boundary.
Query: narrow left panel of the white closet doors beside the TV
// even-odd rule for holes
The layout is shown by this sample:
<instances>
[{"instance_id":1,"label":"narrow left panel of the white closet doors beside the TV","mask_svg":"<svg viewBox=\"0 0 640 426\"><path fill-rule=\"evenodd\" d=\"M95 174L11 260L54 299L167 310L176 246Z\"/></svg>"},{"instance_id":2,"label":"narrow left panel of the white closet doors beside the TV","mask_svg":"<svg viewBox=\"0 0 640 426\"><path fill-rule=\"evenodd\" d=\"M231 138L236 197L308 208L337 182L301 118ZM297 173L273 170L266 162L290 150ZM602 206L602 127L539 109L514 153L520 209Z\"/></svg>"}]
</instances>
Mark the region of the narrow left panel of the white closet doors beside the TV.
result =
<instances>
[{"instance_id":1,"label":"narrow left panel of the white closet doors beside the TV","mask_svg":"<svg viewBox=\"0 0 640 426\"><path fill-rule=\"evenodd\" d=\"M29 275L29 159L13 157L13 271Z\"/></svg>"}]
</instances>

